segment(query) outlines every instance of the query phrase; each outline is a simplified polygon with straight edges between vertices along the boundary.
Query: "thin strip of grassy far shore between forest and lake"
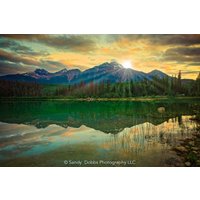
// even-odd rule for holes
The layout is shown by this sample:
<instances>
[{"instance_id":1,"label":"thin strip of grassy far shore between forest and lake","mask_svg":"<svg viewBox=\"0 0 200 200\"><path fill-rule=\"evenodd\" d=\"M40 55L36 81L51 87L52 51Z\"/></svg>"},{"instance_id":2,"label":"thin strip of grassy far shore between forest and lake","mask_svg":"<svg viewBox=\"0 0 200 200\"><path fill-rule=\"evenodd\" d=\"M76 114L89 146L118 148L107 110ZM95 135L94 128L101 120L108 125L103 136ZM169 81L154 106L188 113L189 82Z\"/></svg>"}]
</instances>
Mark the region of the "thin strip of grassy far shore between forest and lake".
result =
<instances>
[{"instance_id":1,"label":"thin strip of grassy far shore between forest and lake","mask_svg":"<svg viewBox=\"0 0 200 200\"><path fill-rule=\"evenodd\" d=\"M169 96L145 96L129 98L73 98L73 97L0 97L2 101L22 100L22 101L159 101L159 100L195 100L200 97L169 97Z\"/></svg>"}]
</instances>

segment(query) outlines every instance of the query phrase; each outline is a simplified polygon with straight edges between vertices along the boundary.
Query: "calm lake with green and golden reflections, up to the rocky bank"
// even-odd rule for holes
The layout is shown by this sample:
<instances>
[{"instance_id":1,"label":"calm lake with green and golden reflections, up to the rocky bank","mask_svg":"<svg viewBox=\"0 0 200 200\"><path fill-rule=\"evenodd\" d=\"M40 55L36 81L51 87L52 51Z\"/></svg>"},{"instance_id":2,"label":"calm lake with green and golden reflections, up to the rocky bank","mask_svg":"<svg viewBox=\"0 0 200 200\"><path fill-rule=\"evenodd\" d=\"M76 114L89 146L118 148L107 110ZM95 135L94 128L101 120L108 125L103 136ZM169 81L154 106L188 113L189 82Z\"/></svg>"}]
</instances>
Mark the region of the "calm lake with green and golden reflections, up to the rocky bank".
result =
<instances>
[{"instance_id":1,"label":"calm lake with green and golden reflections, up to the rocky bank","mask_svg":"<svg viewBox=\"0 0 200 200\"><path fill-rule=\"evenodd\" d=\"M195 106L1 101L0 166L167 166L171 147L197 126Z\"/></svg>"}]
</instances>

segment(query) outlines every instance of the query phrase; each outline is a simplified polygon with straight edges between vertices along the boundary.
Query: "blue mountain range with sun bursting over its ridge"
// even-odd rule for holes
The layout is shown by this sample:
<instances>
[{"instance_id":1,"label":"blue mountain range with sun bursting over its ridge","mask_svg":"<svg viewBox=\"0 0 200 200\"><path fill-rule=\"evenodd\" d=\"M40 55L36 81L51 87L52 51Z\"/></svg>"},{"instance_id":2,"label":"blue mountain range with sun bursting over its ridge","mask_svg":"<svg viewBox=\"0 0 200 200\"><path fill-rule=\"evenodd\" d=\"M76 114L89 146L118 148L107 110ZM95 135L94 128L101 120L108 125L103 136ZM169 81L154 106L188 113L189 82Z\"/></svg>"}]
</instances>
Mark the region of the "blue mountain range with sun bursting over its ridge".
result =
<instances>
[{"instance_id":1,"label":"blue mountain range with sun bursting over its ridge","mask_svg":"<svg viewBox=\"0 0 200 200\"><path fill-rule=\"evenodd\" d=\"M168 75L159 70L144 73L130 68L126 69L117 62L105 62L82 72L79 69L68 70L64 68L58 72L50 73L45 69L36 69L33 72L1 76L0 80L37 82L44 84L77 84L81 82L117 83L127 81L138 82L145 79L151 80L154 76L164 78Z\"/></svg>"}]
</instances>

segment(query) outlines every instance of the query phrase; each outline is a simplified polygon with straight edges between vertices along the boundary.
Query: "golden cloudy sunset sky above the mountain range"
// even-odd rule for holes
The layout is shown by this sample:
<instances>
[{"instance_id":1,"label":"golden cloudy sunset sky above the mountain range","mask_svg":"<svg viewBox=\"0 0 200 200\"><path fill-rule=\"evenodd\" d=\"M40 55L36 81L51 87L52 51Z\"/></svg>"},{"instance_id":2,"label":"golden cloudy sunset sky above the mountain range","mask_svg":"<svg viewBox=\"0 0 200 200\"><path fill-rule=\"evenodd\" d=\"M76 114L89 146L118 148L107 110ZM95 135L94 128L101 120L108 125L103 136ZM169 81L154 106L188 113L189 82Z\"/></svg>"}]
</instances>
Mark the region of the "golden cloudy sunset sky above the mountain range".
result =
<instances>
[{"instance_id":1,"label":"golden cloudy sunset sky above the mountain range","mask_svg":"<svg viewBox=\"0 0 200 200\"><path fill-rule=\"evenodd\" d=\"M134 70L161 70L196 79L200 35L0 35L0 75L79 68L116 61ZM128 65L127 65L128 63Z\"/></svg>"}]
</instances>

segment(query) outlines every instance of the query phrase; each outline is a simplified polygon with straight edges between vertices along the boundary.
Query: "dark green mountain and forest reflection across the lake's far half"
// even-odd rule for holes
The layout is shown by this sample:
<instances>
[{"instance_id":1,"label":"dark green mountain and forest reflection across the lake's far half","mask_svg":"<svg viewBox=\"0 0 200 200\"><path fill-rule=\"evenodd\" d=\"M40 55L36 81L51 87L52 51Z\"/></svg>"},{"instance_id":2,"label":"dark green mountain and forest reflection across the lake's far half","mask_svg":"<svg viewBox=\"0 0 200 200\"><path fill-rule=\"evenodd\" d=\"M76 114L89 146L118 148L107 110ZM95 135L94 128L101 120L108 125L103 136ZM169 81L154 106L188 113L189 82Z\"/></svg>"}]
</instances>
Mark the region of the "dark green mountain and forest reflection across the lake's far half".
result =
<instances>
[{"instance_id":1,"label":"dark green mountain and forest reflection across the lake's far half","mask_svg":"<svg viewBox=\"0 0 200 200\"><path fill-rule=\"evenodd\" d=\"M159 113L159 107L165 107ZM85 125L105 133L118 133L126 127L150 122L158 125L169 118L191 115L191 104L159 102L1 102L0 121L45 128Z\"/></svg>"}]
</instances>

